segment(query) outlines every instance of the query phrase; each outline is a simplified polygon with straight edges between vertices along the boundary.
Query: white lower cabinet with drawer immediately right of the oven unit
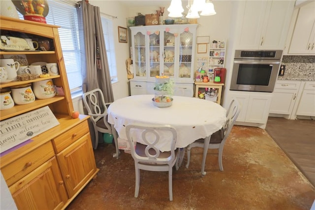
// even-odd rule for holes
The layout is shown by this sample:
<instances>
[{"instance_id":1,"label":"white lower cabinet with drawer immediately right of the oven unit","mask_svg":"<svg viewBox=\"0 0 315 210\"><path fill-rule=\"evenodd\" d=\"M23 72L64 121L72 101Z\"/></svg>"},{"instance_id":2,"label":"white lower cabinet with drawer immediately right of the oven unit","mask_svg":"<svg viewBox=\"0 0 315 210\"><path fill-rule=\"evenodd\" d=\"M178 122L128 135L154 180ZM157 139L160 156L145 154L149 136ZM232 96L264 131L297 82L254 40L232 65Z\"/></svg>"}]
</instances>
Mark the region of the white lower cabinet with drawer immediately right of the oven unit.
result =
<instances>
[{"instance_id":1,"label":"white lower cabinet with drawer immediately right of the oven unit","mask_svg":"<svg viewBox=\"0 0 315 210\"><path fill-rule=\"evenodd\" d=\"M290 119L294 104L298 99L300 85L300 81L277 80L269 113L285 115L284 118Z\"/></svg>"}]
</instances>

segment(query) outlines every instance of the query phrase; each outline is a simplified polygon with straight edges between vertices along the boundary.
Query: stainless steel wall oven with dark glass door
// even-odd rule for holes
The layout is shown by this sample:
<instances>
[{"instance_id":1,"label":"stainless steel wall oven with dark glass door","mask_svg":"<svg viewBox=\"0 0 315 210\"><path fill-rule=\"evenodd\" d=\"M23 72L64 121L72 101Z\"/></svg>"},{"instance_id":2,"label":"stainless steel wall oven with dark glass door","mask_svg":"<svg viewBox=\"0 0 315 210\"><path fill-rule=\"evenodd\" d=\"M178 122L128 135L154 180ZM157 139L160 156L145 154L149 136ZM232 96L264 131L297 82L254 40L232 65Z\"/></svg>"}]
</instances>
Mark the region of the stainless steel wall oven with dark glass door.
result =
<instances>
[{"instance_id":1,"label":"stainless steel wall oven with dark glass door","mask_svg":"<svg viewBox=\"0 0 315 210\"><path fill-rule=\"evenodd\" d=\"M272 92L282 50L236 50L230 90Z\"/></svg>"}]
</instances>

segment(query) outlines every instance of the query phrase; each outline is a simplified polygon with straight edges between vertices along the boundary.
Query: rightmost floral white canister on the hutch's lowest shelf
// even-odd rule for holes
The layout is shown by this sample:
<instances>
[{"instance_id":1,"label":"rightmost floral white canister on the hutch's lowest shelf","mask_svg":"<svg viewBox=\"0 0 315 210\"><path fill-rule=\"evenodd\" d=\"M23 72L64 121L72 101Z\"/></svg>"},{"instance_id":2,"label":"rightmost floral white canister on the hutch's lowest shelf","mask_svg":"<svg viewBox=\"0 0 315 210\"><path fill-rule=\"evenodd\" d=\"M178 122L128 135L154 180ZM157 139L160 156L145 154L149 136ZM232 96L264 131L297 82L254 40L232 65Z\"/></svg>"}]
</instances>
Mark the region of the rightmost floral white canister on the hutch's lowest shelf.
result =
<instances>
[{"instance_id":1,"label":"rightmost floral white canister on the hutch's lowest shelf","mask_svg":"<svg viewBox=\"0 0 315 210\"><path fill-rule=\"evenodd\" d=\"M52 98L56 95L56 89L51 79L33 83L33 90L36 98Z\"/></svg>"}]
</instances>

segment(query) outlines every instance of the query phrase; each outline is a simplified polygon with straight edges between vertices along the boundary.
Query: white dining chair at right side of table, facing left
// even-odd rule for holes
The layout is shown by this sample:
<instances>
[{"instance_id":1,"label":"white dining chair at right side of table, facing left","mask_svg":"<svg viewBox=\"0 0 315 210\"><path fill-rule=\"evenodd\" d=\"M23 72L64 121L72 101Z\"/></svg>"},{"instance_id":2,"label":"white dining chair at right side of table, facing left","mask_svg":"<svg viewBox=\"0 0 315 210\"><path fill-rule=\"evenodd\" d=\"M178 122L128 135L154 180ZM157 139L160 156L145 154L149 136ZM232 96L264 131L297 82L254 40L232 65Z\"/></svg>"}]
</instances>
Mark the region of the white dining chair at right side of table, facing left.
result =
<instances>
[{"instance_id":1,"label":"white dining chair at right side of table, facing left","mask_svg":"<svg viewBox=\"0 0 315 210\"><path fill-rule=\"evenodd\" d=\"M204 148L203 158L202 158L202 163L201 163L202 176L206 175L205 164L206 164L206 157L207 157L208 149L219 149L219 156L218 156L219 168L220 168L220 171L223 171L223 165L222 165L223 147L239 113L240 113L240 105L238 101L233 98L226 112L226 121L223 127L217 132L213 133L211 136L208 136L204 139L198 139L187 147L186 168L189 167L191 148L200 147L200 148Z\"/></svg>"}]
</instances>

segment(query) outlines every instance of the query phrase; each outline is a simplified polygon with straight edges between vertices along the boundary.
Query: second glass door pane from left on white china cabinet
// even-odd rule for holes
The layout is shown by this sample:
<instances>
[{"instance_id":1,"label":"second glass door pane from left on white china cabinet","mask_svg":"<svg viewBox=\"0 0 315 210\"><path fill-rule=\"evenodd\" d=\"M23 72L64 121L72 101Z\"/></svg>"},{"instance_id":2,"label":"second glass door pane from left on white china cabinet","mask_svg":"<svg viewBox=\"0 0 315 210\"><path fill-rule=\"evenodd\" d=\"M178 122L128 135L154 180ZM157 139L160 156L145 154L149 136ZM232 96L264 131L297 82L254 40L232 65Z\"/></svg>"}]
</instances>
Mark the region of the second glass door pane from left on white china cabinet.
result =
<instances>
[{"instance_id":1,"label":"second glass door pane from left on white china cabinet","mask_svg":"<svg viewBox=\"0 0 315 210\"><path fill-rule=\"evenodd\" d=\"M149 36L150 46L150 77L159 75L159 33Z\"/></svg>"}]
</instances>

